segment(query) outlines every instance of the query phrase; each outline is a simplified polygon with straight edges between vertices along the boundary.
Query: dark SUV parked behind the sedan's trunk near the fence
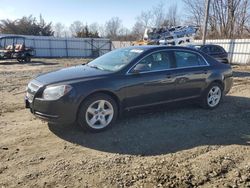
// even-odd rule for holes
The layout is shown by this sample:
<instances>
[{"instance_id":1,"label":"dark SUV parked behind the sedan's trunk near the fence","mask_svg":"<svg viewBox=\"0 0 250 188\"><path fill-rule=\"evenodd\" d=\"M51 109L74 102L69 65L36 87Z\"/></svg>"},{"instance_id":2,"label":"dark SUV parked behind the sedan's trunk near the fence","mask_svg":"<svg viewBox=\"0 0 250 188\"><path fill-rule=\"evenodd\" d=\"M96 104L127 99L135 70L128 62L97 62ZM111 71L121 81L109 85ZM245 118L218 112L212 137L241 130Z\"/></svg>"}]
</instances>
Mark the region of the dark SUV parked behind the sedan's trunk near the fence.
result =
<instances>
[{"instance_id":1,"label":"dark SUV parked behind the sedan's trunk near the fence","mask_svg":"<svg viewBox=\"0 0 250 188\"><path fill-rule=\"evenodd\" d=\"M216 60L218 60L221 63L229 63L228 61L228 53L226 50L215 44L206 44L206 45L188 45L188 47L195 48L197 50L200 50Z\"/></svg>"}]
</instances>

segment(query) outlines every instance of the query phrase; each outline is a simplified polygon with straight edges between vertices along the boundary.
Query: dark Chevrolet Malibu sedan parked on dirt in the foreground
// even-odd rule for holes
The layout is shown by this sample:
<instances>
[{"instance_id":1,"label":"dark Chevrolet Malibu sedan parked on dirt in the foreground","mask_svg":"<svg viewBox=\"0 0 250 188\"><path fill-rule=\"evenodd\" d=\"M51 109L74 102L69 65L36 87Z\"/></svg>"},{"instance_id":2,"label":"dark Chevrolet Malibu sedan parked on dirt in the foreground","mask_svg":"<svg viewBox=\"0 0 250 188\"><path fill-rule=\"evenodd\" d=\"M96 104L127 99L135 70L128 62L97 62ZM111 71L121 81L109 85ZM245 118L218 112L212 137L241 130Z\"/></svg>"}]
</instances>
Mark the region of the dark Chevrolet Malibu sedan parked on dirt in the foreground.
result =
<instances>
[{"instance_id":1,"label":"dark Chevrolet Malibu sedan parked on dirt in the foreground","mask_svg":"<svg viewBox=\"0 0 250 188\"><path fill-rule=\"evenodd\" d=\"M54 124L77 122L107 129L124 110L193 99L216 108L232 87L232 69L185 47L139 46L114 50L88 64L37 76L26 107Z\"/></svg>"}]
</instances>

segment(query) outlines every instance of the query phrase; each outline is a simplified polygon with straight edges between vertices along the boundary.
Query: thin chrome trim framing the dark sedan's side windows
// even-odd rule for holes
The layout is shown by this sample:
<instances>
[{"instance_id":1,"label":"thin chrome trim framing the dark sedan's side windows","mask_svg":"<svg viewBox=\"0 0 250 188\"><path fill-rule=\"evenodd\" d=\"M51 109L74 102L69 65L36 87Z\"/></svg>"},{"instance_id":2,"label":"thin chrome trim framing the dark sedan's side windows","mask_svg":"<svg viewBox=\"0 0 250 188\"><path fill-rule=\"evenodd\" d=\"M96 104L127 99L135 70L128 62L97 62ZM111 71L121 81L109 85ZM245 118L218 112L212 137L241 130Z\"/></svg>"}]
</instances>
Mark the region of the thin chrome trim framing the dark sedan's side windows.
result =
<instances>
[{"instance_id":1,"label":"thin chrome trim framing the dark sedan's side windows","mask_svg":"<svg viewBox=\"0 0 250 188\"><path fill-rule=\"evenodd\" d=\"M207 60L203 57L203 55L199 54L198 52L187 50L187 49L164 49L164 50L157 50L154 52L149 53L145 57L142 57L140 60L138 60L132 67L129 68L129 70L126 72L126 75L134 75L132 72L130 72L137 64L139 64L143 59L147 58L148 56L152 55L153 53L158 53L162 51L186 51L190 53L195 53L199 55L206 63L206 65L196 65L196 66L189 66L189 67L176 67L176 68L168 68L168 69L162 69L162 70L151 70L151 71L143 71L140 72L140 74L145 74L145 73L153 73L153 72L162 72L162 71L170 71L170 70L178 70L178 69L189 69L189 68L196 68L196 67L209 67L210 64L207 62Z\"/></svg>"}]
</instances>

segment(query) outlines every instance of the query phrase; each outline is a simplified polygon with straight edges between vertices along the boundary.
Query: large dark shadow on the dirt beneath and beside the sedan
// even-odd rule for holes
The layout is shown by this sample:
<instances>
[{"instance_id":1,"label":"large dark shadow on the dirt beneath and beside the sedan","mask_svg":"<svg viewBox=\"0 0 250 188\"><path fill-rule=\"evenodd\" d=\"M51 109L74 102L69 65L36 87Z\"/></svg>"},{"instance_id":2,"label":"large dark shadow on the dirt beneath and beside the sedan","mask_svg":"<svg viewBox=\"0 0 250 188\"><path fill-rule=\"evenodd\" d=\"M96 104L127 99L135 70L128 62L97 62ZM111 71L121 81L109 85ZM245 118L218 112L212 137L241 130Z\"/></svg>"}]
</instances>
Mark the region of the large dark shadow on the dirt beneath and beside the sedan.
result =
<instances>
[{"instance_id":1,"label":"large dark shadow on the dirt beneath and beside the sedan","mask_svg":"<svg viewBox=\"0 0 250 188\"><path fill-rule=\"evenodd\" d=\"M190 102L131 111L107 131L51 125L56 136L110 153L152 156L203 145L250 144L250 98L227 96L215 110Z\"/></svg>"}]
</instances>

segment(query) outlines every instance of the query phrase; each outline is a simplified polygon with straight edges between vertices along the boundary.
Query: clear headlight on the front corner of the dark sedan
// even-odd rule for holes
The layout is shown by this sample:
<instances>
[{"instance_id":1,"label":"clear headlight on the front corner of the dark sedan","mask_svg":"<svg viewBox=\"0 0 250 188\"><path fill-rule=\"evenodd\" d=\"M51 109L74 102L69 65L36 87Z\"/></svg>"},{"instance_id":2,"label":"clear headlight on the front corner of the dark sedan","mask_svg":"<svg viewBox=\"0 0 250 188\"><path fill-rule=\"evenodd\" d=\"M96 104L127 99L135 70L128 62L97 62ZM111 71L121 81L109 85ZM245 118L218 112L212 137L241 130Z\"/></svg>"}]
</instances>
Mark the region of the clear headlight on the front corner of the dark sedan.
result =
<instances>
[{"instance_id":1,"label":"clear headlight on the front corner of the dark sedan","mask_svg":"<svg viewBox=\"0 0 250 188\"><path fill-rule=\"evenodd\" d=\"M43 99L57 100L66 95L71 89L70 85L48 86L43 91Z\"/></svg>"}]
</instances>

